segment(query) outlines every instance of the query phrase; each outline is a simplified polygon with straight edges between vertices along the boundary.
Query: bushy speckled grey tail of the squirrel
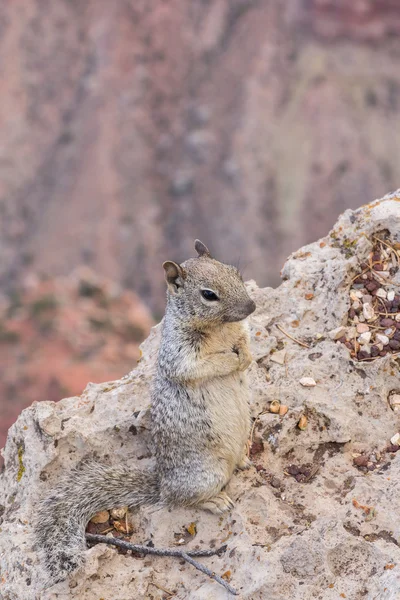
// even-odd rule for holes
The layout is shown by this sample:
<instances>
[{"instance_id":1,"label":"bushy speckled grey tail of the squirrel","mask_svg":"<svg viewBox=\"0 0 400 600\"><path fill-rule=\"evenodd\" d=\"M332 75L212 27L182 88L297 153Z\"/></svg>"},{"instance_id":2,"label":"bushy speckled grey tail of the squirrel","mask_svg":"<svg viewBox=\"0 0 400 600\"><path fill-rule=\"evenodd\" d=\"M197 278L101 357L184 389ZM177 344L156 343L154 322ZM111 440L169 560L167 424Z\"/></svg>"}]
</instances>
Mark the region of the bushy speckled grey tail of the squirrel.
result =
<instances>
[{"instance_id":1,"label":"bushy speckled grey tail of the squirrel","mask_svg":"<svg viewBox=\"0 0 400 600\"><path fill-rule=\"evenodd\" d=\"M85 528L99 510L156 504L159 486L154 469L84 463L60 481L38 508L34 538L47 583L65 579L83 564Z\"/></svg>"}]
</instances>

